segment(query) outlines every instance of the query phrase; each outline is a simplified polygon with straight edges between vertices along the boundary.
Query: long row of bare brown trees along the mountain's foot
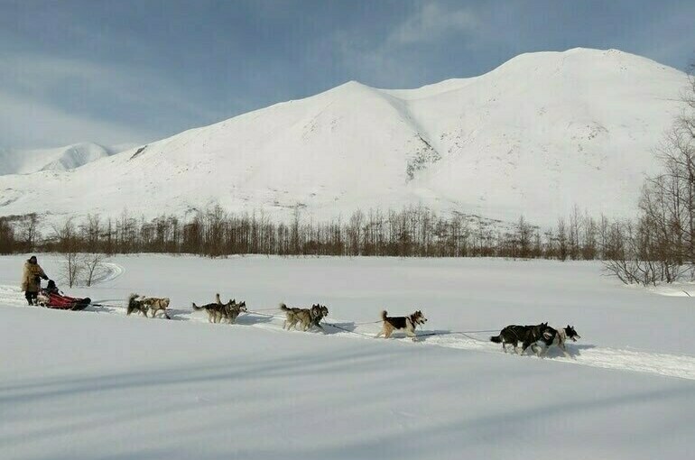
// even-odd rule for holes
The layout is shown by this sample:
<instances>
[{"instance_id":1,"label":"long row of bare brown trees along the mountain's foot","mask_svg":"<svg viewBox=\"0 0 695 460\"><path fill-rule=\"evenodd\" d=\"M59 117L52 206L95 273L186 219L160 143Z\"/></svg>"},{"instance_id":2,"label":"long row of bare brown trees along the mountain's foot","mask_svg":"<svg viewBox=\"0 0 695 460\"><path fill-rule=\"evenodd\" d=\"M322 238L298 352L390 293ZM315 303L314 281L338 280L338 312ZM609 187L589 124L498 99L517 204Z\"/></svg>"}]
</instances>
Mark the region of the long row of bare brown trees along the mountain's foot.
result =
<instances>
[{"instance_id":1,"label":"long row of bare brown trees along the mountain's foot","mask_svg":"<svg viewBox=\"0 0 695 460\"><path fill-rule=\"evenodd\" d=\"M426 207L357 211L348 219L315 223L297 210L290 222L263 214L234 215L219 206L188 220L152 220L124 213L116 219L70 219L42 235L35 215L0 218L0 253L190 253L398 257L512 257L593 260L625 245L623 225L575 207L551 230L520 217L505 225L476 216L440 216Z\"/></svg>"}]
</instances>

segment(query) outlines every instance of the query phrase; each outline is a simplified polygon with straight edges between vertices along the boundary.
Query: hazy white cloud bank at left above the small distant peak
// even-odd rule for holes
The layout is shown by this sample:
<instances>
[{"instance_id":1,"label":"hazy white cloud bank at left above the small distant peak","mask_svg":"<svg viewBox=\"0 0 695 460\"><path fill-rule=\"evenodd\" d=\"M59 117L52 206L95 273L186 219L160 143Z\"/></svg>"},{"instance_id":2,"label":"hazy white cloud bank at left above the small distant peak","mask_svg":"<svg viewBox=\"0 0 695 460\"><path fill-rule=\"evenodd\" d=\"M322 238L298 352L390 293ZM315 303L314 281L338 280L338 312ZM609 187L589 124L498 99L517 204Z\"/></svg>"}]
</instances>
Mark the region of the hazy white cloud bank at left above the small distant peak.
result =
<instances>
[{"instance_id":1,"label":"hazy white cloud bank at left above the small distant peak","mask_svg":"<svg viewBox=\"0 0 695 460\"><path fill-rule=\"evenodd\" d=\"M66 93L74 93L73 98L66 101ZM170 121L171 114L214 119L153 69L40 54L0 54L0 147L142 143L168 133L166 125L147 129L127 121L126 110L162 114L162 123Z\"/></svg>"}]
</instances>

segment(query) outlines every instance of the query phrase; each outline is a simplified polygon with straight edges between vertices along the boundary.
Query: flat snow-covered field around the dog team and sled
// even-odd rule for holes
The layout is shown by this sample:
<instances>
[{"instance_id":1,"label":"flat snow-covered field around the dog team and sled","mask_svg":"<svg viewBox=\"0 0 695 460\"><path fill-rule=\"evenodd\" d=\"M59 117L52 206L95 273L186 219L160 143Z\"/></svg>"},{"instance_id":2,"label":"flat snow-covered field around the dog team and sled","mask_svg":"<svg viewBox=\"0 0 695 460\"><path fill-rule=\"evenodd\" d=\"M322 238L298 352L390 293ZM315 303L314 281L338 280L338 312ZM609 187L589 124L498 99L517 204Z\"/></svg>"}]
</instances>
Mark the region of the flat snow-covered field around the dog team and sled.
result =
<instances>
[{"instance_id":1,"label":"flat snow-covered field around the dog team and sled","mask_svg":"<svg viewBox=\"0 0 695 460\"><path fill-rule=\"evenodd\" d=\"M23 306L23 257L0 257L0 457L689 457L695 448L693 299L630 289L597 263L118 257L88 290L108 307ZM40 262L56 277L57 260ZM131 291L173 320L126 317ZM273 313L321 302L327 334L259 315L210 325L190 302ZM375 340L422 308L423 332ZM573 358L503 354L473 331L549 320Z\"/></svg>"}]
</instances>

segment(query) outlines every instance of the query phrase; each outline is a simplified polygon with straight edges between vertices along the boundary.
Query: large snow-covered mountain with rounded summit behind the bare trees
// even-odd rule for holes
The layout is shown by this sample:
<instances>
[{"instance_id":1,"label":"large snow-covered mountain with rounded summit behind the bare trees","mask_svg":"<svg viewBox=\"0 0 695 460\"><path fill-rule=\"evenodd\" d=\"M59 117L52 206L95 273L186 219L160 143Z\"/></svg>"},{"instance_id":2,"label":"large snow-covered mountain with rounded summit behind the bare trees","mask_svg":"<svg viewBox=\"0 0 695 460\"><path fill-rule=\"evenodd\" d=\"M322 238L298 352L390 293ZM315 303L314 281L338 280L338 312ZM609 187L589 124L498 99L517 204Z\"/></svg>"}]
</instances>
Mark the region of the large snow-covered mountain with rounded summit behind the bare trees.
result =
<instances>
[{"instance_id":1,"label":"large snow-covered mountain with rounded summit behind the bare trees","mask_svg":"<svg viewBox=\"0 0 695 460\"><path fill-rule=\"evenodd\" d=\"M0 177L0 215L230 211L317 218L422 203L550 224L625 216L686 76L621 51L520 55L476 78L350 81L74 170Z\"/></svg>"}]
</instances>

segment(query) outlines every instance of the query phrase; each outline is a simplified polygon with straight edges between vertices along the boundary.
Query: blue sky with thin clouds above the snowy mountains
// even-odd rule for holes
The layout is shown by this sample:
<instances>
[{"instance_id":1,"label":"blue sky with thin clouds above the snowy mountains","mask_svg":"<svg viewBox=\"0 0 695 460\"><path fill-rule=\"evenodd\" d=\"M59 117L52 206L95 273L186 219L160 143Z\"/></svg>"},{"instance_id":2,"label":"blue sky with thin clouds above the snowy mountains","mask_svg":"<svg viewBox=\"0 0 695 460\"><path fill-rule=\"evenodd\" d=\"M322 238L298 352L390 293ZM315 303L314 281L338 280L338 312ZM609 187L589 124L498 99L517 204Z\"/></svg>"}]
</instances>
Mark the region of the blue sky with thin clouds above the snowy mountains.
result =
<instances>
[{"instance_id":1,"label":"blue sky with thin clouds above the snowy mountains","mask_svg":"<svg viewBox=\"0 0 695 460\"><path fill-rule=\"evenodd\" d=\"M347 80L419 87L529 51L685 69L695 1L0 0L0 148L144 143Z\"/></svg>"}]
</instances>

